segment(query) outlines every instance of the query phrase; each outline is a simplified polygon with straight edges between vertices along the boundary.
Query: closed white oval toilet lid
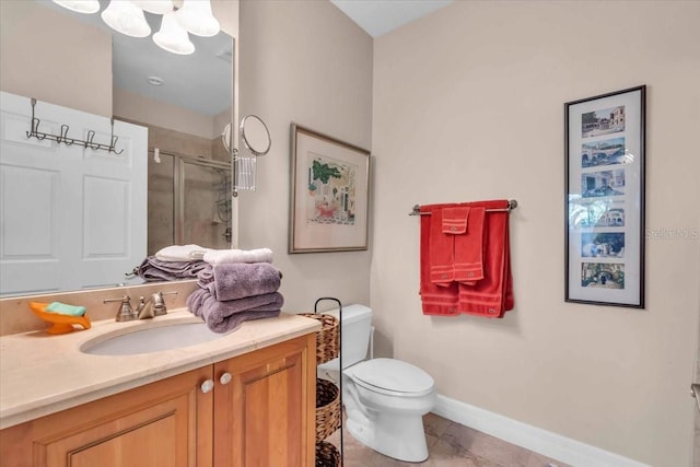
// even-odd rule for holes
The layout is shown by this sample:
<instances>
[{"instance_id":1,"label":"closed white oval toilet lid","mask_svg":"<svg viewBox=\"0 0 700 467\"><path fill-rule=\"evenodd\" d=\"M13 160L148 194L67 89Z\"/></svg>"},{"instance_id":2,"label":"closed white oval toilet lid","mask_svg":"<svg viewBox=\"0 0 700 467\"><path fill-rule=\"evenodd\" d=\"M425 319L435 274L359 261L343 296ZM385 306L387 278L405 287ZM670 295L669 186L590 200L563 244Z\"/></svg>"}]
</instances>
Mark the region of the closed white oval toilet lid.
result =
<instances>
[{"instance_id":1,"label":"closed white oval toilet lid","mask_svg":"<svg viewBox=\"0 0 700 467\"><path fill-rule=\"evenodd\" d=\"M394 359L373 359L358 363L352 374L359 383L393 393L427 394L433 389L433 378L410 363Z\"/></svg>"}]
</instances>

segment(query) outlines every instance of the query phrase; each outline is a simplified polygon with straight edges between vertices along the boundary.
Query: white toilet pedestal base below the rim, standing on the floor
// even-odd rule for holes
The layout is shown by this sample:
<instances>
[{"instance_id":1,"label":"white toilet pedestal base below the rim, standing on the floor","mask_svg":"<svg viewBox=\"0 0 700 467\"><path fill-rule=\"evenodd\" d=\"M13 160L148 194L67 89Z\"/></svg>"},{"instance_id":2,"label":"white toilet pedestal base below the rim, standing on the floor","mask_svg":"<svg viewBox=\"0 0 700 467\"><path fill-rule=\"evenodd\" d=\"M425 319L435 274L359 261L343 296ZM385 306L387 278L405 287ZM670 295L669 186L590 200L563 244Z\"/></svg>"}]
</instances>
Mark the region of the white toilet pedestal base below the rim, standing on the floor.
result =
<instances>
[{"instance_id":1,"label":"white toilet pedestal base below the rim, standing on the floor","mask_svg":"<svg viewBox=\"0 0 700 467\"><path fill-rule=\"evenodd\" d=\"M360 443L385 456L421 463L428 458L428 445L421 416L372 413L372 421L361 413L348 413L348 432Z\"/></svg>"}]
</instances>

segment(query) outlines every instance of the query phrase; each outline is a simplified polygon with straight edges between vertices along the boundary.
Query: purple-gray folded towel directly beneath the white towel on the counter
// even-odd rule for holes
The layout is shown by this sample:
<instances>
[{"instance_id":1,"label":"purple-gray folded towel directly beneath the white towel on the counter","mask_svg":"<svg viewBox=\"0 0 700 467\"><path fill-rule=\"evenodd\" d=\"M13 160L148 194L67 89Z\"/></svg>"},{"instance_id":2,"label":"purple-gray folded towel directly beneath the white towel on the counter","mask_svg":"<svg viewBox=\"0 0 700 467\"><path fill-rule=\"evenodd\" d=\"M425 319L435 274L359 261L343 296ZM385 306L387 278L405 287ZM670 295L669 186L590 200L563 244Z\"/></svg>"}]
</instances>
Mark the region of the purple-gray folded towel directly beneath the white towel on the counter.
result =
<instances>
[{"instance_id":1,"label":"purple-gray folded towel directly beneath the white towel on the counter","mask_svg":"<svg viewBox=\"0 0 700 467\"><path fill-rule=\"evenodd\" d=\"M281 272L269 262L230 262L202 269L199 287L207 289L214 299L225 302L253 295L277 292Z\"/></svg>"}]
</instances>

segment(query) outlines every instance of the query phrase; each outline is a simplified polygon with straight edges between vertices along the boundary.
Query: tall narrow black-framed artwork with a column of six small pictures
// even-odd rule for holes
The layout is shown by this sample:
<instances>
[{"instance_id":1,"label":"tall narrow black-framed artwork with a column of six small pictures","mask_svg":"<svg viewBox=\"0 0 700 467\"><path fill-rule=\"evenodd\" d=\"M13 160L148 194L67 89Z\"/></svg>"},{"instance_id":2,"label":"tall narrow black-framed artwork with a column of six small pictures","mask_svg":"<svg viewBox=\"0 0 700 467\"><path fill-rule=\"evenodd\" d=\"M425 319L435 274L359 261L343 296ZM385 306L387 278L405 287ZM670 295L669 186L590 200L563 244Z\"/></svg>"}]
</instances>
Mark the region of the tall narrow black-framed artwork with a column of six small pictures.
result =
<instances>
[{"instance_id":1,"label":"tall narrow black-framed artwork with a column of six small pictures","mask_svg":"<svg viewBox=\"0 0 700 467\"><path fill-rule=\"evenodd\" d=\"M567 302L644 307L645 93L564 104Z\"/></svg>"}]
</instances>

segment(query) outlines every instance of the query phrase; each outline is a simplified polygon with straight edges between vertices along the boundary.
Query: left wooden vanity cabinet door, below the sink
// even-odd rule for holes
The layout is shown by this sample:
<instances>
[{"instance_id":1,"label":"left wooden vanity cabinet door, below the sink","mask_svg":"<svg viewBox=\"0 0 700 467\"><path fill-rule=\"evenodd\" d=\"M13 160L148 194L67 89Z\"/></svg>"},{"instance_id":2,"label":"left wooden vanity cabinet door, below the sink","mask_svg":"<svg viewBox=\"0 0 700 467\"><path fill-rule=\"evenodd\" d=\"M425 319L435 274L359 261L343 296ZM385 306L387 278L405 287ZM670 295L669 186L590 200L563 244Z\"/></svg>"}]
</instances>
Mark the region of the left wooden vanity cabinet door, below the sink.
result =
<instances>
[{"instance_id":1,"label":"left wooden vanity cabinet door, below the sink","mask_svg":"<svg viewBox=\"0 0 700 467\"><path fill-rule=\"evenodd\" d=\"M207 366L5 430L3 441L23 437L14 440L8 465L211 465L213 395L200 389L210 378Z\"/></svg>"}]
</instances>

